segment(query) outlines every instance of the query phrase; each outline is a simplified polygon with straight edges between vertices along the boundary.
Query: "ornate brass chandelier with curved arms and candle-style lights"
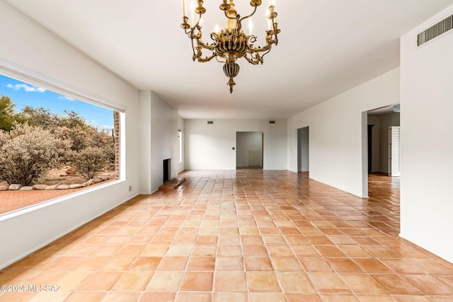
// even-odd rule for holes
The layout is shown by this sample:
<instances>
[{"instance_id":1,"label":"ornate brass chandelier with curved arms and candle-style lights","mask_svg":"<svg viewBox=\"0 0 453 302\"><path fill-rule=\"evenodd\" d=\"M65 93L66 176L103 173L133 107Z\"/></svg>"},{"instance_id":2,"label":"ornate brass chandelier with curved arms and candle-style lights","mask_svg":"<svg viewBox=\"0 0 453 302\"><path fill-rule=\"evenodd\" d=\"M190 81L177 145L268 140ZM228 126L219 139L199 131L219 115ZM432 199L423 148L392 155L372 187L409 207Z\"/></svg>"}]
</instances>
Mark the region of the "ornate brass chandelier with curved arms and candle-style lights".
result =
<instances>
[{"instance_id":1,"label":"ornate brass chandelier with curved arms and candle-style lights","mask_svg":"<svg viewBox=\"0 0 453 302\"><path fill-rule=\"evenodd\" d=\"M239 74L239 64L236 63L236 60L244 57L253 65L263 64L265 54L270 52L273 44L278 44L277 35L280 33L280 29L277 28L278 23L275 23L277 13L275 12L275 6L272 1L270 0L270 6L268 8L268 30L265 31L266 44L263 47L254 47L253 43L258 38L252 35L251 32L249 35L244 33L242 30L242 21L251 18L256 13L256 9L262 3L261 0L251 0L250 6L253 7L253 12L242 18L234 8L234 0L223 0L223 3L220 4L220 10L224 11L227 18L226 28L216 30L217 33L211 33L211 44L202 41L201 19L202 15L206 13L206 8L203 7L203 1L197 0L198 6L192 12L192 25L189 25L189 18L186 16L185 0L183 0L184 16L181 28L184 29L185 34L192 41L193 61L195 62L195 59L197 59L198 62L209 62L211 59L216 58L217 62L224 63L224 74L229 77L226 85L229 86L230 93L233 92L233 87L236 85L234 83L234 77ZM195 23L195 13L198 15L197 23ZM209 50L212 53L206 57L202 57L203 50Z\"/></svg>"}]
</instances>

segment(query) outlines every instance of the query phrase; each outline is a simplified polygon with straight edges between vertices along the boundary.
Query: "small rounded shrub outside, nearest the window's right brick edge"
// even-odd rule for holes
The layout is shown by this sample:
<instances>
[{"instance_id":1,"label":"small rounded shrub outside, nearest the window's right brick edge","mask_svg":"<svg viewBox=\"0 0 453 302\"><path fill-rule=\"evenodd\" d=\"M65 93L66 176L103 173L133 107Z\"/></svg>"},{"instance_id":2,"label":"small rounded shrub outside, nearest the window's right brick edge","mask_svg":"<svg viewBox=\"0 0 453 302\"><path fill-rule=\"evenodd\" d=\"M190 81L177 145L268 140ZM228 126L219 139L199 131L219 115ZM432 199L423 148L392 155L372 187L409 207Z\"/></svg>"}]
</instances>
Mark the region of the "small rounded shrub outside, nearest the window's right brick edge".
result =
<instances>
[{"instance_id":1,"label":"small rounded shrub outside, nearest the window's right brick edge","mask_svg":"<svg viewBox=\"0 0 453 302\"><path fill-rule=\"evenodd\" d=\"M91 180L108 165L108 158L102 148L88 146L74 153L72 166L86 180Z\"/></svg>"}]
</instances>

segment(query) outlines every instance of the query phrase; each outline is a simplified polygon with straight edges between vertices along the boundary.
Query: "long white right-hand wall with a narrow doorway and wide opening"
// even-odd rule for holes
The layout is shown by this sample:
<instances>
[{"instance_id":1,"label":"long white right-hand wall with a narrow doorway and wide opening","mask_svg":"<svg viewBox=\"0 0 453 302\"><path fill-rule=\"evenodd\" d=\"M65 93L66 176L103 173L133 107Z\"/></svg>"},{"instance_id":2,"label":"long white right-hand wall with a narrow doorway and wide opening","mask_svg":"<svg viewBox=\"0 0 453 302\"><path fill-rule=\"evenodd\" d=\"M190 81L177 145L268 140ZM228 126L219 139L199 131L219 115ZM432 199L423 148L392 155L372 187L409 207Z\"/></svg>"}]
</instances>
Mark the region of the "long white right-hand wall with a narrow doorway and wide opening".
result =
<instances>
[{"instance_id":1,"label":"long white right-hand wall with a narrow doorway and wide opening","mask_svg":"<svg viewBox=\"0 0 453 302\"><path fill-rule=\"evenodd\" d=\"M296 129L309 126L310 178L367 197L366 112L395 103L399 69L290 117L288 170L297 172Z\"/></svg>"}]
</instances>

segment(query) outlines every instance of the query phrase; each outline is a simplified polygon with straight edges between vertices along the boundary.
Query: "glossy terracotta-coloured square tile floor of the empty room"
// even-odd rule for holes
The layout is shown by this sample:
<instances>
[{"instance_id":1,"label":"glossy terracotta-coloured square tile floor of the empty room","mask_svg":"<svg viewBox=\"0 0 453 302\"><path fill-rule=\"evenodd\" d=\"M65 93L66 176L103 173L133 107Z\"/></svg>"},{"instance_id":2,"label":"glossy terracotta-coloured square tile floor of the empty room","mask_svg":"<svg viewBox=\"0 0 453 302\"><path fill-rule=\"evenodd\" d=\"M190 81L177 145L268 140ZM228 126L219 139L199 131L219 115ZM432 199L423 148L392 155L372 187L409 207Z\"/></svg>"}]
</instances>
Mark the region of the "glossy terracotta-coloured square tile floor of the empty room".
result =
<instances>
[{"instance_id":1,"label":"glossy terracotta-coloured square tile floor of the empty room","mask_svg":"<svg viewBox=\"0 0 453 302\"><path fill-rule=\"evenodd\" d=\"M453 301L453 265L397 236L395 178L369 199L289 171L180 178L0 272L59 291L0 301Z\"/></svg>"}]
</instances>

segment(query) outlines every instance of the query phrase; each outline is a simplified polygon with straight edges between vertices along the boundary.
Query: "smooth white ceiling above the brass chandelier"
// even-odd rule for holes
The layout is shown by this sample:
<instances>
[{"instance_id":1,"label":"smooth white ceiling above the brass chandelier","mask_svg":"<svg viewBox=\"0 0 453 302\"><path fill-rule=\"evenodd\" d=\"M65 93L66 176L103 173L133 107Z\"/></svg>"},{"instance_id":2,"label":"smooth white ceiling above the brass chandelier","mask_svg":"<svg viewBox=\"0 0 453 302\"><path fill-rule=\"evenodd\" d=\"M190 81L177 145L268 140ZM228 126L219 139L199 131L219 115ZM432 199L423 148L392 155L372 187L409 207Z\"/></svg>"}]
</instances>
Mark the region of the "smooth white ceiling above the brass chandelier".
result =
<instances>
[{"instance_id":1,"label":"smooth white ceiling above the brass chandelier","mask_svg":"<svg viewBox=\"0 0 453 302\"><path fill-rule=\"evenodd\" d=\"M3 0L184 118L290 117L399 66L399 40L453 0L276 0L279 44L253 66L239 60L234 92L222 64L192 61L181 0ZM188 0L190 2L190 0ZM205 39L224 25L206 0ZM236 0L241 16L249 0ZM253 16L263 43L268 1ZM217 18L219 21L214 21ZM414 37L415 41L415 37Z\"/></svg>"}]
</instances>

